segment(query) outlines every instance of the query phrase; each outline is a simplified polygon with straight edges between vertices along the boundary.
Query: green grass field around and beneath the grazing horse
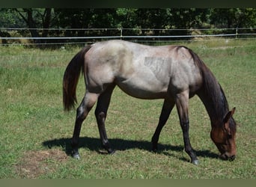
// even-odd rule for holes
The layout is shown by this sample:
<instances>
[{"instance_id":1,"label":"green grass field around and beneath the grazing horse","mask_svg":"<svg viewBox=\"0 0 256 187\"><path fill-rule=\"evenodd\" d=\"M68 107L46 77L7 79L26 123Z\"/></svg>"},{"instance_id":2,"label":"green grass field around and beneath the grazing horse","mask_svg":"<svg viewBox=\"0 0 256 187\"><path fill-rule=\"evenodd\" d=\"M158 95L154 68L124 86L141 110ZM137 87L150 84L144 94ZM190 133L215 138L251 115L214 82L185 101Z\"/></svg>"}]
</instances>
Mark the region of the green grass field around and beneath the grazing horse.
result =
<instances>
[{"instance_id":1,"label":"green grass field around and beneath the grazing horse","mask_svg":"<svg viewBox=\"0 0 256 187\"><path fill-rule=\"evenodd\" d=\"M174 109L150 152L162 100L141 100L115 89L106 130L117 152L103 154L92 111L82 126L80 160L69 155L76 112L63 111L62 77L77 47L0 47L0 178L256 178L256 43L216 40L181 43L203 59L222 85L237 127L237 159L218 159L210 120L197 96L190 99L190 138L200 164L189 163ZM78 85L79 102L85 91ZM94 108L93 108L94 110Z\"/></svg>"}]
</instances>

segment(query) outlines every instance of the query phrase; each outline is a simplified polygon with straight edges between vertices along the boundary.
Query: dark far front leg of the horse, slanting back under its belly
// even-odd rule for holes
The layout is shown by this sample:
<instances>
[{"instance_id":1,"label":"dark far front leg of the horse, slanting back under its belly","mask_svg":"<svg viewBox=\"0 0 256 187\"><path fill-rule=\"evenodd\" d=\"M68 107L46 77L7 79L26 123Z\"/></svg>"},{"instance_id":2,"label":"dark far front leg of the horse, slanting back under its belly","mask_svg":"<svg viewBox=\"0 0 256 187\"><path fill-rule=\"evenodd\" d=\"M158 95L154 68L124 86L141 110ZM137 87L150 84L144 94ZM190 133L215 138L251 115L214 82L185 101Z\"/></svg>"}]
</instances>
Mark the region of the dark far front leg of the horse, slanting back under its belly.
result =
<instances>
[{"instance_id":1,"label":"dark far front leg of the horse, slanting back under its belly","mask_svg":"<svg viewBox=\"0 0 256 187\"><path fill-rule=\"evenodd\" d=\"M171 102L171 100L169 99L165 99L164 104L162 105L162 111L159 117L159 123L151 139L153 151L157 150L157 144L159 141L160 132L162 131L162 127L165 126L165 123L168 120L168 117L171 114L171 110L172 108L174 108L174 105L175 105L175 102Z\"/></svg>"}]
</instances>

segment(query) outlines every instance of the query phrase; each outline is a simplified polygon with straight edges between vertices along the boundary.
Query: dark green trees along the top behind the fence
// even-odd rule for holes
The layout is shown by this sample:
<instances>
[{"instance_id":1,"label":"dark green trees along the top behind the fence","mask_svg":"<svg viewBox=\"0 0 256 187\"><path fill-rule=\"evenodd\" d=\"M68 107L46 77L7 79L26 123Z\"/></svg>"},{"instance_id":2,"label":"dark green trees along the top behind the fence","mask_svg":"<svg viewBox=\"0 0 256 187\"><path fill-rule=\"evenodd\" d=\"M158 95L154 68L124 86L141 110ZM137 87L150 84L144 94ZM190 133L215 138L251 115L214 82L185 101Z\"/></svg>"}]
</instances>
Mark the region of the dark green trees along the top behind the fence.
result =
<instances>
[{"instance_id":1,"label":"dark green trees along the top behind the fence","mask_svg":"<svg viewBox=\"0 0 256 187\"><path fill-rule=\"evenodd\" d=\"M30 29L32 37L116 36L116 30L47 30L43 28L135 28L124 35L185 35L189 30L166 31L166 28L255 28L255 8L15 8L1 9L2 27ZM147 28L145 31L138 28ZM150 28L159 30L150 31ZM160 30L162 29L162 30ZM24 31L22 36L29 34ZM226 32L234 31L228 30ZM248 31L246 31L248 32ZM255 32L252 29L252 32ZM1 32L5 36L6 31ZM207 34L207 33L206 33ZM212 34L212 33L208 33ZM213 33L214 34L214 33ZM222 31L223 34L223 31ZM51 40L54 42L54 40ZM58 41L58 40L57 40ZM82 40L79 40L82 41ZM34 43L48 42L34 40Z\"/></svg>"}]
</instances>

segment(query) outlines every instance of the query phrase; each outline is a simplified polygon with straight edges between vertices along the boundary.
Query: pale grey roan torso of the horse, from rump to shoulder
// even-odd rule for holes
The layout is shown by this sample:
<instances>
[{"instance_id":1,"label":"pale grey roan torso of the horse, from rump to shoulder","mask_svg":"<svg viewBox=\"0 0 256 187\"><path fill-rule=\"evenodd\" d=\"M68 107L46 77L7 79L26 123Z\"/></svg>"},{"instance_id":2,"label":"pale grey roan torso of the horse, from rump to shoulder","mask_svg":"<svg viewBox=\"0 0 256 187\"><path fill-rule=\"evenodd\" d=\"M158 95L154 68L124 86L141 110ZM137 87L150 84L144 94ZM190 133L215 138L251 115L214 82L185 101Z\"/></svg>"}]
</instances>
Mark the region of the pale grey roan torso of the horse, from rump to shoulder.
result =
<instances>
[{"instance_id":1,"label":"pale grey roan torso of the horse, from rump to shoulder","mask_svg":"<svg viewBox=\"0 0 256 187\"><path fill-rule=\"evenodd\" d=\"M164 98L167 91L195 88L201 75L182 46L145 46L122 40L94 43L85 55L88 88L115 82L142 99Z\"/></svg>"}]
</instances>

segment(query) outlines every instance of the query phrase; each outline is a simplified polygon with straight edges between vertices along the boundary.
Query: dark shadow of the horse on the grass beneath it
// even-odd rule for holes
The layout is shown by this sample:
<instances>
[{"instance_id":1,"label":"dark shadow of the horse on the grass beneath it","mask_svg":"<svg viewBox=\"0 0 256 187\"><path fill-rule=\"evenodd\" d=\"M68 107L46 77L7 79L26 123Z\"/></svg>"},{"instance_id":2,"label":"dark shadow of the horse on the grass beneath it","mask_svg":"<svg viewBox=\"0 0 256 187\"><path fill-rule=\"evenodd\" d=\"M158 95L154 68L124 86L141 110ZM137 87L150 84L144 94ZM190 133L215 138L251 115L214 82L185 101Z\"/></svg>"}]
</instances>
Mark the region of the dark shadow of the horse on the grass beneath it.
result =
<instances>
[{"instance_id":1,"label":"dark shadow of the horse on the grass beneath it","mask_svg":"<svg viewBox=\"0 0 256 187\"><path fill-rule=\"evenodd\" d=\"M61 147L65 153L70 156L71 155L71 139L70 138L60 138L53 139L49 141L44 141L43 146L51 149L52 147ZM99 138L91 138L91 137L82 137L79 139L79 148L86 147L89 150L97 151L98 153L105 154L106 152L101 151L101 144ZM134 140L125 140L120 138L112 138L109 139L109 143L112 144L112 147L115 150L129 150L129 149L141 149L151 151L152 144L150 141L134 141ZM168 151L180 152L180 157L177 159L188 160L188 156L186 158L183 156L182 151L184 147L181 145L171 145L171 144L158 144L158 150L156 153L165 154L167 156L176 156L176 154ZM209 157L209 158L218 158L216 153L211 152L210 150L195 150L197 156Z\"/></svg>"}]
</instances>

